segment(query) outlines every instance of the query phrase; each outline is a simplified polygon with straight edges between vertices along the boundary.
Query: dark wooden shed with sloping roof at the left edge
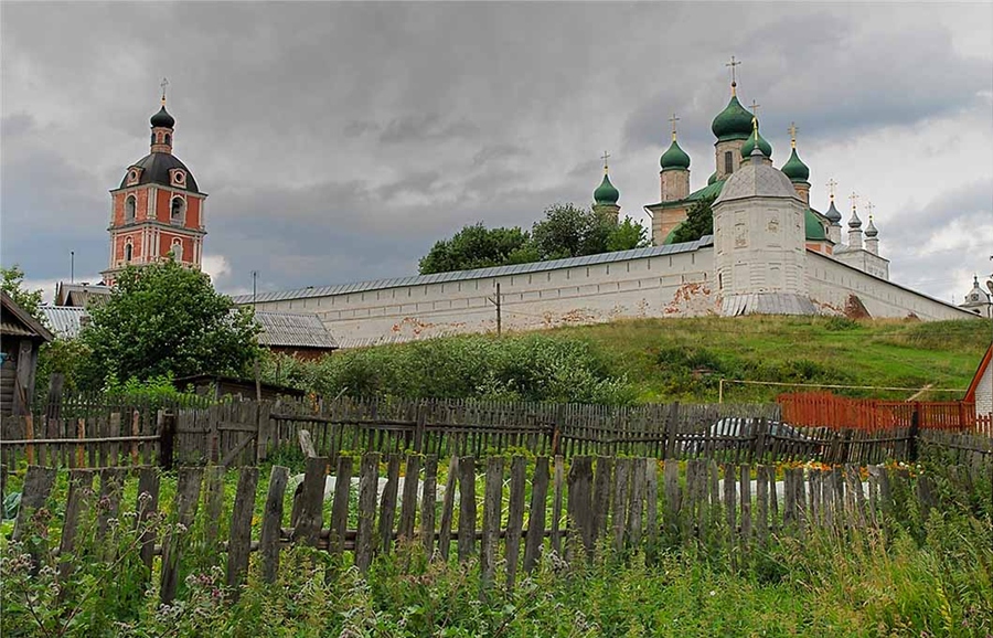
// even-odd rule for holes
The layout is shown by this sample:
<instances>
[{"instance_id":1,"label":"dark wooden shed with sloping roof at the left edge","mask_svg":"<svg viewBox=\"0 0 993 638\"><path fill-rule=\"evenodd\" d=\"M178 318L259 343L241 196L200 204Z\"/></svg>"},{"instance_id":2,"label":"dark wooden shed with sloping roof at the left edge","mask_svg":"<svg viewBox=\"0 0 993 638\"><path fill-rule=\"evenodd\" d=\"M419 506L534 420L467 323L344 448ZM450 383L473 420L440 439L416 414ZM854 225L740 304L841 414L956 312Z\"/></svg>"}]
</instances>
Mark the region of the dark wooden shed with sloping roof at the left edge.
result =
<instances>
[{"instance_id":1,"label":"dark wooden shed with sloping roof at the left edge","mask_svg":"<svg viewBox=\"0 0 993 638\"><path fill-rule=\"evenodd\" d=\"M26 414L34 398L38 349L52 341L47 328L0 291L0 414Z\"/></svg>"}]
</instances>

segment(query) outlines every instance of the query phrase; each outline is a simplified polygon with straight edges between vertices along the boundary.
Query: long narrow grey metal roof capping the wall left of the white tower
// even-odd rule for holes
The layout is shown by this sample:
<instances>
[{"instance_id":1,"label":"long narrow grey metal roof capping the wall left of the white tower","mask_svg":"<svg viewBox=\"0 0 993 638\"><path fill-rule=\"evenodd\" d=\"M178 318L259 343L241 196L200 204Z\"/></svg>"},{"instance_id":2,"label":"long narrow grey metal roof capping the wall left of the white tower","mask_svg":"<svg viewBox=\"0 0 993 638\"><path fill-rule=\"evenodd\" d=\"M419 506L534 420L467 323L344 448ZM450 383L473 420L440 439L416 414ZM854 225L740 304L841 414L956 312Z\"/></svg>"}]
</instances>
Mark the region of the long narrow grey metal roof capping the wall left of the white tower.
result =
<instances>
[{"instance_id":1,"label":"long narrow grey metal roof capping the wall left of the white tower","mask_svg":"<svg viewBox=\"0 0 993 638\"><path fill-rule=\"evenodd\" d=\"M485 279L489 277L502 277L510 275L523 275L527 273L544 273L559 268L575 266L595 266L598 264L612 264L629 259L642 259L645 257L661 257L679 253L692 253L700 248L711 246L714 243L712 235L701 237L695 242L672 244L669 246L650 246L648 248L634 248L632 251L618 251L616 253L601 253L584 257L569 257L568 259L553 259L549 262L533 262L531 264L515 264L513 266L496 266L493 268L476 268L472 270L456 270L453 273L437 273L435 275L416 275L413 277L398 277L394 279L374 279L371 281L356 281L353 284L339 284L337 286L310 286L296 290L279 290L275 293L260 293L255 301L287 301L290 299L308 299L312 297L330 297L333 295L348 295L350 293L367 293L385 288L399 288L403 286L423 286L425 284L447 284L449 281L465 281L467 279ZM252 304L252 295L234 297L235 304Z\"/></svg>"}]
</instances>

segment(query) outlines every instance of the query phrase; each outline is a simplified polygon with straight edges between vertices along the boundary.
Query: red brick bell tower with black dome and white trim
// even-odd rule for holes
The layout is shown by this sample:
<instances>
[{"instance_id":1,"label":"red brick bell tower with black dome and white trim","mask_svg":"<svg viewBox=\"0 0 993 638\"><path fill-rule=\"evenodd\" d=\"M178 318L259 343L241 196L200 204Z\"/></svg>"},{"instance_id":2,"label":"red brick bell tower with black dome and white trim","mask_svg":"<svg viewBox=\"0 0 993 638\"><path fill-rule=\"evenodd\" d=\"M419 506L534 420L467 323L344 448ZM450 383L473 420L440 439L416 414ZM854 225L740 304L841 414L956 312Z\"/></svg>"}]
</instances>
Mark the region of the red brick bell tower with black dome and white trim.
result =
<instances>
[{"instance_id":1,"label":"red brick bell tower with black dome and white trim","mask_svg":"<svg viewBox=\"0 0 993 638\"><path fill-rule=\"evenodd\" d=\"M175 119L162 107L151 117L151 147L128 167L120 185L110 191L110 262L103 272L113 285L128 265L141 266L170 255L200 269L203 255L204 200L190 170L172 155Z\"/></svg>"}]
</instances>

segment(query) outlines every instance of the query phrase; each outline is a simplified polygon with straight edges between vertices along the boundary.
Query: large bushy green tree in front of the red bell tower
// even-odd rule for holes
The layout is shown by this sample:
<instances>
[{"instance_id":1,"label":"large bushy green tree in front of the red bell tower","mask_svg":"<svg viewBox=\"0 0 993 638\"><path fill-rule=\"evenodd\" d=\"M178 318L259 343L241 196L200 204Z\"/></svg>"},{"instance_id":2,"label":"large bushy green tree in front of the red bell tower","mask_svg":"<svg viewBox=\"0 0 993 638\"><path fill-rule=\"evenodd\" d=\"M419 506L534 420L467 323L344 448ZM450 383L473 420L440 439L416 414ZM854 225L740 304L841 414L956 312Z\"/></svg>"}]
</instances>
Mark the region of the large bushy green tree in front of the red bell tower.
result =
<instances>
[{"instance_id":1,"label":"large bushy green tree in front of the red bell tower","mask_svg":"<svg viewBox=\"0 0 993 638\"><path fill-rule=\"evenodd\" d=\"M260 330L249 308L217 294L210 277L172 259L128 267L110 298L89 309L79 340L90 379L246 374Z\"/></svg>"}]
</instances>

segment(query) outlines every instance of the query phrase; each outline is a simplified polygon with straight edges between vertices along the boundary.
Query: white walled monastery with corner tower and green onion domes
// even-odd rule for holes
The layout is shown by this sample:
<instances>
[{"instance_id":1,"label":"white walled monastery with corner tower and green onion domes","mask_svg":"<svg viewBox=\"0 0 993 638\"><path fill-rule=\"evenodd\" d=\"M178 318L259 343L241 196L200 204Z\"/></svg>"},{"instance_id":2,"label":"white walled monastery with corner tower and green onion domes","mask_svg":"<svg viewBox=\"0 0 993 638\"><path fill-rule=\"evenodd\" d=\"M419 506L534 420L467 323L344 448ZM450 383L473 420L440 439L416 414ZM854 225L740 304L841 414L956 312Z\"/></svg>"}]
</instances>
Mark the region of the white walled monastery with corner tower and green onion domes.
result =
<instances>
[{"instance_id":1,"label":"white walled monastery with corner tower and green onion domes","mask_svg":"<svg viewBox=\"0 0 993 638\"><path fill-rule=\"evenodd\" d=\"M661 158L661 200L649 248L456 273L263 293L259 310L316 312L342 347L496 329L495 296L506 330L622 318L705 315L975 317L889 281L872 215L863 227L853 199L846 241L831 202L810 206L810 170L797 153L772 166L758 119L735 95L714 118L715 171L690 192L690 156L675 139ZM694 203L713 203L714 234L673 243ZM594 206L619 214L606 174ZM237 297L250 304L250 296ZM976 301L978 304L978 301Z\"/></svg>"}]
</instances>

